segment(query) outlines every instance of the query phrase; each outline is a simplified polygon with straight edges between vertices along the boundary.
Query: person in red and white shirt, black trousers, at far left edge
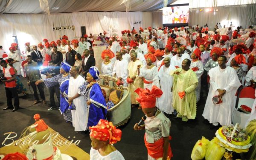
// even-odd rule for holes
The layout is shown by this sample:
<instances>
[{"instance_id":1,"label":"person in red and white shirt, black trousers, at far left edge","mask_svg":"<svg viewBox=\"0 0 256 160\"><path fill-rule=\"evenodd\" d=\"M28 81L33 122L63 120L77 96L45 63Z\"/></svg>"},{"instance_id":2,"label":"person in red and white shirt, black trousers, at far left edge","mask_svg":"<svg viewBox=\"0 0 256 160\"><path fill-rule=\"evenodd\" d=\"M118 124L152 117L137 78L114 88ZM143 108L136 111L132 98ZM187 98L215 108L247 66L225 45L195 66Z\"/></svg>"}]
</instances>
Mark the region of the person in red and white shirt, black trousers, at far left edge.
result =
<instances>
[{"instance_id":1,"label":"person in red and white shirt, black trousers, at far left edge","mask_svg":"<svg viewBox=\"0 0 256 160\"><path fill-rule=\"evenodd\" d=\"M19 96L16 88L16 74L13 67L7 65L5 60L1 60L1 66L3 67L4 77L0 77L0 81L5 83L7 106L3 110L12 109L13 112L20 108ZM14 98L14 108L12 105L12 98Z\"/></svg>"}]
</instances>

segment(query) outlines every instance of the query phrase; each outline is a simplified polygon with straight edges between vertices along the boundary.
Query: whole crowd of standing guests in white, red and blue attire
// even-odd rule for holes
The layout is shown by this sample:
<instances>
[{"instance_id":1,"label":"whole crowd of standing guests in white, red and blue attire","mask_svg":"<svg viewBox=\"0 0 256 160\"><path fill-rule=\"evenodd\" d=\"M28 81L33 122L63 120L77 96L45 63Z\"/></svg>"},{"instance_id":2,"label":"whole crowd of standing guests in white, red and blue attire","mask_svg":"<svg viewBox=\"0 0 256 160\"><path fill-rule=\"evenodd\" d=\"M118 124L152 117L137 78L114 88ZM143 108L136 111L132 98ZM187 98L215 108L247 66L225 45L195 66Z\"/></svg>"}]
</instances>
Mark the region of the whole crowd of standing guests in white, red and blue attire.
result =
<instances>
[{"instance_id":1,"label":"whole crowd of standing guests in white, red and blue attire","mask_svg":"<svg viewBox=\"0 0 256 160\"><path fill-rule=\"evenodd\" d=\"M147 117L152 118L146 119L145 125L134 125L135 130L145 128L148 157L171 158L171 122L165 114L172 114L185 122L195 119L198 116L197 104L205 97L204 118L213 126L230 125L237 89L241 85L255 88L256 32L251 29L248 38L243 39L240 31L233 31L230 27L224 35L218 31L209 34L207 25L205 28L197 25L180 29L140 28L138 33L135 29L124 30L120 38L109 38L104 32L97 38L84 35L79 40L69 41L64 35L56 43L47 39L43 40L44 44L33 47L26 43L24 63L18 44L13 43L7 59L0 57L4 73L1 81L5 83L7 97L7 107L3 110L17 111L18 93L27 94L19 79L20 66L23 66L28 85L33 88L34 104L40 102L37 90L46 104L45 84L50 95L48 111L59 107L75 131L90 130L91 140L96 143L95 126L108 123L104 121L108 108L98 84L99 70L95 67L93 52L93 41L101 41L98 44L106 46L101 53L101 74L115 77L118 86L128 87L131 107L142 109ZM0 53L1 56L4 54ZM41 66L45 67L42 69ZM42 79L42 74L47 78ZM14 105L12 98L15 99ZM252 109L254 112L255 107ZM163 146L163 150L156 154L152 145ZM108 143L102 143L102 146L111 149ZM94 150L91 152L99 156Z\"/></svg>"}]
</instances>

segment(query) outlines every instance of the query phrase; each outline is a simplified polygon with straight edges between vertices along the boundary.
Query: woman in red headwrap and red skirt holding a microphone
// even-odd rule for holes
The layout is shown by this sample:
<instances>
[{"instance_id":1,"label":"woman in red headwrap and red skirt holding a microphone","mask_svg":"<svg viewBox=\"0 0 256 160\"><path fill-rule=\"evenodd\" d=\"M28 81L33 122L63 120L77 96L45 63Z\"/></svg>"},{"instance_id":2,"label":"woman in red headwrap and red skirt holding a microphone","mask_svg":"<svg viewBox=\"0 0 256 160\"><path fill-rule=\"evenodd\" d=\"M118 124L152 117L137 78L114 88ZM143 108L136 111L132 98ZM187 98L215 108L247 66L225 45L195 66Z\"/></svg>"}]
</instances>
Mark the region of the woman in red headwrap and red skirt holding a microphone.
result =
<instances>
[{"instance_id":1,"label":"woman in red headwrap and red skirt holding a microphone","mask_svg":"<svg viewBox=\"0 0 256 160\"><path fill-rule=\"evenodd\" d=\"M145 128L144 142L148 149L148 159L170 160L173 157L169 143L171 121L155 106L156 98L163 94L162 90L153 86L151 90L138 88L135 92L139 95L137 101L140 103L146 119L145 125L136 123L134 130Z\"/></svg>"}]
</instances>

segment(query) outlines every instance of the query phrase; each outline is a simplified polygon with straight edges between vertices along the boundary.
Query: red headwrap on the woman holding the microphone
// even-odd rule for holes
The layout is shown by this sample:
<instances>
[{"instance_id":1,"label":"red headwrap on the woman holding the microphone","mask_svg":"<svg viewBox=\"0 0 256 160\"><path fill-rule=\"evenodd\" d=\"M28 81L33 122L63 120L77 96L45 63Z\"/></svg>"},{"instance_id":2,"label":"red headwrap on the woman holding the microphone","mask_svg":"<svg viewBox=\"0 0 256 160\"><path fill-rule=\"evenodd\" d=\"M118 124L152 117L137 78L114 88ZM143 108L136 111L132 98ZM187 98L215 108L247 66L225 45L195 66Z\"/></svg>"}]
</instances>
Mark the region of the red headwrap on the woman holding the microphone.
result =
<instances>
[{"instance_id":1,"label":"red headwrap on the woman holding the microphone","mask_svg":"<svg viewBox=\"0 0 256 160\"><path fill-rule=\"evenodd\" d=\"M142 108L154 108L156 106L156 98L159 98L163 94L163 91L155 85L152 86L151 90L148 88L137 88L134 92L139 95L139 98L136 100Z\"/></svg>"}]
</instances>

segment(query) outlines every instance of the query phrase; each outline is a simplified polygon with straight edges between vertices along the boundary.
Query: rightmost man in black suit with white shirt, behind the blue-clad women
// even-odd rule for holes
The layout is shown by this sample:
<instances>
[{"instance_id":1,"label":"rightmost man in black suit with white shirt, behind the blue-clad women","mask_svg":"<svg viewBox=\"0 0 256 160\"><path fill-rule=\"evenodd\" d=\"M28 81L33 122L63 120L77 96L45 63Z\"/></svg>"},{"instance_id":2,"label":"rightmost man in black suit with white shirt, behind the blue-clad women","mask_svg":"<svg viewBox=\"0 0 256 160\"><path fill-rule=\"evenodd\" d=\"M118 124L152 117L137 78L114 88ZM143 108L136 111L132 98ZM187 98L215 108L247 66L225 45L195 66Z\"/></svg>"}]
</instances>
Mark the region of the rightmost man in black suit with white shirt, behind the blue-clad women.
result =
<instances>
[{"instance_id":1,"label":"rightmost man in black suit with white shirt, behind the blue-clad women","mask_svg":"<svg viewBox=\"0 0 256 160\"><path fill-rule=\"evenodd\" d=\"M82 65L79 70L79 73L82 73L84 77L86 77L86 74L88 73L90 67L95 66L95 58L90 55L88 49L84 49L83 55L84 58L82 60Z\"/></svg>"}]
</instances>

